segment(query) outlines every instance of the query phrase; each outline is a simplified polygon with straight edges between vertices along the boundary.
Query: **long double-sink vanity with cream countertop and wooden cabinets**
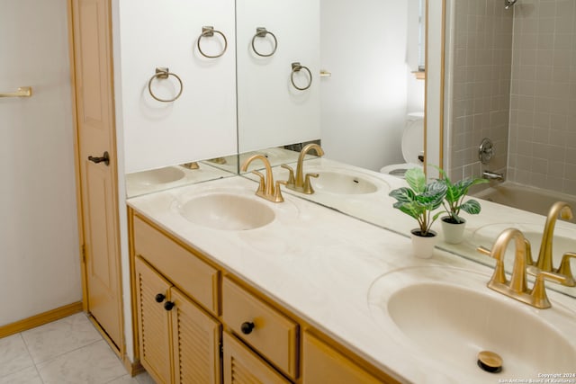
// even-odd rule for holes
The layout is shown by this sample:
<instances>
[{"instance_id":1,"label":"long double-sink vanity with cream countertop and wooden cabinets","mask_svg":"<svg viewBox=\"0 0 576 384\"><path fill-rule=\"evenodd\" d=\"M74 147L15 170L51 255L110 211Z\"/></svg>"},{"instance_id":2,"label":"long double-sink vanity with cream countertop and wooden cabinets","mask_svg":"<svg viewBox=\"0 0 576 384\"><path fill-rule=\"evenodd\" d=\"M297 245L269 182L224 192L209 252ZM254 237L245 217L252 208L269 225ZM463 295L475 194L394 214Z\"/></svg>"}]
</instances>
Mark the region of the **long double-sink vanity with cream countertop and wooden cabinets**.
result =
<instances>
[{"instance_id":1,"label":"long double-sink vanity with cream countertop and wooden cabinets","mask_svg":"<svg viewBox=\"0 0 576 384\"><path fill-rule=\"evenodd\" d=\"M288 193L265 201L256 188L234 176L128 201L135 339L157 382L485 383L573 371L573 299L549 292L553 308L536 310L486 288L491 268L440 250L416 259L407 237ZM190 210L199 201L211 210ZM410 293L423 287L448 293ZM419 311L421 297L454 304L450 318ZM479 298L479 314L518 319L498 325L504 342L491 318L478 335L458 326L456 309L473 314ZM516 345L530 331L520 319L543 326L536 342L551 358ZM500 349L505 371L478 368L482 347Z\"/></svg>"}]
</instances>

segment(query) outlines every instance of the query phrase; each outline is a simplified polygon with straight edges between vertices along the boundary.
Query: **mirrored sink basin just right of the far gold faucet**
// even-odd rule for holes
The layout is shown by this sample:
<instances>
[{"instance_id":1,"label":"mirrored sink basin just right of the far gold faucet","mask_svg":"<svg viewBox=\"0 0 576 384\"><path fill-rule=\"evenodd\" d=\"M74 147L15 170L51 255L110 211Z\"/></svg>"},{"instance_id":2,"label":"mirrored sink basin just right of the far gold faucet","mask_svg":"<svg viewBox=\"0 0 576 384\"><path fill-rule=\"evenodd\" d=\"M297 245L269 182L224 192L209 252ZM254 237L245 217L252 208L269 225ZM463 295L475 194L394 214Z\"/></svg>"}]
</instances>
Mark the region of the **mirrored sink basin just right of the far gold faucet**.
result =
<instances>
[{"instance_id":1,"label":"mirrored sink basin just right of the far gold faucet","mask_svg":"<svg viewBox=\"0 0 576 384\"><path fill-rule=\"evenodd\" d=\"M319 174L317 179L311 179L314 189L319 192L366 194L378 191L375 183L357 174L325 170L312 172Z\"/></svg>"}]
</instances>

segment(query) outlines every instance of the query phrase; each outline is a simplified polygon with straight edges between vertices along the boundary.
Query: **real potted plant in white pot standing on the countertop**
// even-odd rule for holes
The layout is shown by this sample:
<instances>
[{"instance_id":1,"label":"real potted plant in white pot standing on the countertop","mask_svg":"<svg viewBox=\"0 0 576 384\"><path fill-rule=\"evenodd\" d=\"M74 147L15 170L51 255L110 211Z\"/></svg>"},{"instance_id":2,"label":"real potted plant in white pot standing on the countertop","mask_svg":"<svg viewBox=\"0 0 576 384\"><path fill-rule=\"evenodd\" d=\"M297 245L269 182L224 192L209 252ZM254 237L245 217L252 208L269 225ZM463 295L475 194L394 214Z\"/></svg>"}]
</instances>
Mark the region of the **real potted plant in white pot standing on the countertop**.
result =
<instances>
[{"instance_id":1,"label":"real potted plant in white pot standing on the countertop","mask_svg":"<svg viewBox=\"0 0 576 384\"><path fill-rule=\"evenodd\" d=\"M446 183L435 180L427 183L422 168L411 168L406 171L408 187L402 187L390 192L396 199L393 207L416 219L419 228L410 231L414 255L421 258L432 256L437 242L437 233L431 230L432 224L442 212L432 214L446 196Z\"/></svg>"}]
</instances>

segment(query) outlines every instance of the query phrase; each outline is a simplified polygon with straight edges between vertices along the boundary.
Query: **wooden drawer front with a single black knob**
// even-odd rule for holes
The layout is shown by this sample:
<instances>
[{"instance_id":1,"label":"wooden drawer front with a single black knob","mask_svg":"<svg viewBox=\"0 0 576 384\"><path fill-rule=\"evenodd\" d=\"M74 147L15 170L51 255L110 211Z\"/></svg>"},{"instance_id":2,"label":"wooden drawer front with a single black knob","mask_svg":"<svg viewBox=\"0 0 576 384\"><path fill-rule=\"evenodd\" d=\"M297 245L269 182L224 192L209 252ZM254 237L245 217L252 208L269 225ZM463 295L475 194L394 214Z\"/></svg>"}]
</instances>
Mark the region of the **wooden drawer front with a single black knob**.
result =
<instances>
[{"instance_id":1,"label":"wooden drawer front with a single black knob","mask_svg":"<svg viewBox=\"0 0 576 384\"><path fill-rule=\"evenodd\" d=\"M298 324L227 278L222 284L222 299L226 325L276 368L295 379Z\"/></svg>"}]
</instances>

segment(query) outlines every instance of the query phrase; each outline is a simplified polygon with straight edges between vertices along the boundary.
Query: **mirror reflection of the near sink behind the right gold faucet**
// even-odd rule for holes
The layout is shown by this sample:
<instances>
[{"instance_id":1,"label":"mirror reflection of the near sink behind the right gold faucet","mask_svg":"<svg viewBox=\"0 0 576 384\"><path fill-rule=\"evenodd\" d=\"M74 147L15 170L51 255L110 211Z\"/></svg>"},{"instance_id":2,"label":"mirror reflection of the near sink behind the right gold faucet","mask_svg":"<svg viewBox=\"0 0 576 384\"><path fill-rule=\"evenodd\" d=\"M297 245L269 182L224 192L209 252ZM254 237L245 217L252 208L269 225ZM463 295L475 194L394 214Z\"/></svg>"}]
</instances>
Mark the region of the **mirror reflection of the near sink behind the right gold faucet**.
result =
<instances>
[{"instance_id":1,"label":"mirror reflection of the near sink behind the right gold faucet","mask_svg":"<svg viewBox=\"0 0 576 384\"><path fill-rule=\"evenodd\" d=\"M491 249L494 246L496 238L506 228L518 228L522 234L527 238L532 247L532 258L536 262L538 258L538 251L542 243L542 232L544 230L544 223L541 226L528 223L495 223L483 226L473 232L471 238L472 246L485 246ZM562 256L566 252L574 252L576 250L576 238L574 238L573 230L554 228L553 240L553 265L558 268L562 261ZM505 264L511 268L514 260L514 247L509 246L505 255ZM576 275L576 263L572 263L572 274Z\"/></svg>"}]
</instances>

